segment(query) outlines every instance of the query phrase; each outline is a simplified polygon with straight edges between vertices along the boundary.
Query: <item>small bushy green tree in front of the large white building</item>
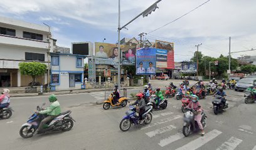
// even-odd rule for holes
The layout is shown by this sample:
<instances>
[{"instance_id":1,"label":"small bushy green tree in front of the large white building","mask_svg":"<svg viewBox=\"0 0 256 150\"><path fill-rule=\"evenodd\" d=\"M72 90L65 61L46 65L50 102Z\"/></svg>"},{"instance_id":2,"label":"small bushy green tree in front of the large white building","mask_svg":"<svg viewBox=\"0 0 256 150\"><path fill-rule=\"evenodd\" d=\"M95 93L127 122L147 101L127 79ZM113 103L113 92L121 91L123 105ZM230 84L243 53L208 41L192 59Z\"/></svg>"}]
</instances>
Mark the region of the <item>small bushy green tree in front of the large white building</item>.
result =
<instances>
[{"instance_id":1,"label":"small bushy green tree in front of the large white building","mask_svg":"<svg viewBox=\"0 0 256 150\"><path fill-rule=\"evenodd\" d=\"M33 82L36 81L36 76L41 76L45 74L46 68L46 64L41 64L37 62L19 63L19 70L21 71L21 74L31 76Z\"/></svg>"}]
</instances>

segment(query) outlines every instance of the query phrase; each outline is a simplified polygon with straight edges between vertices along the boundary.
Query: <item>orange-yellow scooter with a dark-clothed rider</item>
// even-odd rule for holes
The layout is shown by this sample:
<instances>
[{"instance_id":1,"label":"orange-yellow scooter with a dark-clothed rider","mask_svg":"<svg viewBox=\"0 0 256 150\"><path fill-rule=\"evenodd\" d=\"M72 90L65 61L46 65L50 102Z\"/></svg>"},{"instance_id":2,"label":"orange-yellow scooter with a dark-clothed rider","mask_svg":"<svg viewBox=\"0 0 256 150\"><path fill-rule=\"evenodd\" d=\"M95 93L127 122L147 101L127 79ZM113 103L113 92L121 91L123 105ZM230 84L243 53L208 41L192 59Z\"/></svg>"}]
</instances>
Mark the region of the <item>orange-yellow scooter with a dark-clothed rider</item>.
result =
<instances>
[{"instance_id":1,"label":"orange-yellow scooter with a dark-clothed rider","mask_svg":"<svg viewBox=\"0 0 256 150\"><path fill-rule=\"evenodd\" d=\"M125 97L120 97L120 98L118 99L118 103L117 103L117 104L113 104L113 103L112 103L113 98L114 98L114 94L111 93L111 94L109 95L109 98L107 98L107 99L104 101L104 103L103 103L103 109L107 110L107 109L110 108L110 106L112 106L112 107L115 107L115 106L122 106L122 107L124 108L124 107L127 105L127 101L128 101L127 98L125 98Z\"/></svg>"}]
</instances>

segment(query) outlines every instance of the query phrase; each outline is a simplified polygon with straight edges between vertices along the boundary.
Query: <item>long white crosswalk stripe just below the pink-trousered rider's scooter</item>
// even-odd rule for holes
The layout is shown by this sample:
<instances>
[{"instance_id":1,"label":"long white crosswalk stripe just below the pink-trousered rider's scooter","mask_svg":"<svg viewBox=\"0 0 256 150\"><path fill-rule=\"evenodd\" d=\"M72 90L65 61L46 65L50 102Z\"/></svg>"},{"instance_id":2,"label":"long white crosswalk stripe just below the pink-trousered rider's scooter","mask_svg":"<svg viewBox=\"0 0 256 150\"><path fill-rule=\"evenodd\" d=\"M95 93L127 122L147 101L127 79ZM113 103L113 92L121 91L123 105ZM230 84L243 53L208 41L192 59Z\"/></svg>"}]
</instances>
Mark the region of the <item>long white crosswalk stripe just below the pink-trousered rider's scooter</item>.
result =
<instances>
[{"instance_id":1,"label":"long white crosswalk stripe just below the pink-trousered rider's scooter","mask_svg":"<svg viewBox=\"0 0 256 150\"><path fill-rule=\"evenodd\" d=\"M200 138L197 138L188 144L185 144L184 146L176 149L176 150L193 150L193 149L198 149L204 144L208 143L212 139L216 138L218 135L220 135L222 132L218 131L216 129L213 129L209 133L206 133L205 136L201 136Z\"/></svg>"}]
</instances>

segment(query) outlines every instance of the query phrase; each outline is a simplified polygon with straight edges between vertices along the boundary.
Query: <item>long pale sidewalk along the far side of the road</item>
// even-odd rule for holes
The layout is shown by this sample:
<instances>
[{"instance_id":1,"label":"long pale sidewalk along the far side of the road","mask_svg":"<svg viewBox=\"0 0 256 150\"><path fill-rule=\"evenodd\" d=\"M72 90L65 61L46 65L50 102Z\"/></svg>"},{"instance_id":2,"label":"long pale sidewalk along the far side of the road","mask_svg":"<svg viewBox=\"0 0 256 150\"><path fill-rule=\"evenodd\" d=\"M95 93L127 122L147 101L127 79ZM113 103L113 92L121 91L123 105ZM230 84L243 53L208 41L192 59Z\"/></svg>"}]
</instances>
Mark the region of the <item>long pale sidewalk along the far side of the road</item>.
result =
<instances>
[{"instance_id":1,"label":"long pale sidewalk along the far side of the road","mask_svg":"<svg viewBox=\"0 0 256 150\"><path fill-rule=\"evenodd\" d=\"M129 86L129 87L122 87L122 89L141 89L143 86ZM61 95L61 94L78 94L78 93L91 93L96 91L112 91L113 88L99 88L99 89L73 89L73 90L63 90L63 91L51 91L50 93L18 93L18 94L10 94L11 97L26 97L26 96L48 96L51 94Z\"/></svg>"}]
</instances>

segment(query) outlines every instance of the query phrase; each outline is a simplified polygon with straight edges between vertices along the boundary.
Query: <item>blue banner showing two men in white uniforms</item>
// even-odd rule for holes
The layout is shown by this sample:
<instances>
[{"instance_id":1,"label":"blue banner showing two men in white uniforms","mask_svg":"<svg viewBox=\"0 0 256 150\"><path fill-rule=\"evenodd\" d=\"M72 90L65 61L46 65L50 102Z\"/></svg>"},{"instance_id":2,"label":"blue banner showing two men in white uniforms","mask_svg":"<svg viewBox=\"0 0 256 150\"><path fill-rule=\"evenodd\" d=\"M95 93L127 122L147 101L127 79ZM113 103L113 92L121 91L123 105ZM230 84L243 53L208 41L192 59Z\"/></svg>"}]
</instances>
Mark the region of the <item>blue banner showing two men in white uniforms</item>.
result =
<instances>
[{"instance_id":1,"label":"blue banner showing two men in white uniforms","mask_svg":"<svg viewBox=\"0 0 256 150\"><path fill-rule=\"evenodd\" d=\"M156 74L156 49L142 48L136 51L136 74Z\"/></svg>"}]
</instances>

